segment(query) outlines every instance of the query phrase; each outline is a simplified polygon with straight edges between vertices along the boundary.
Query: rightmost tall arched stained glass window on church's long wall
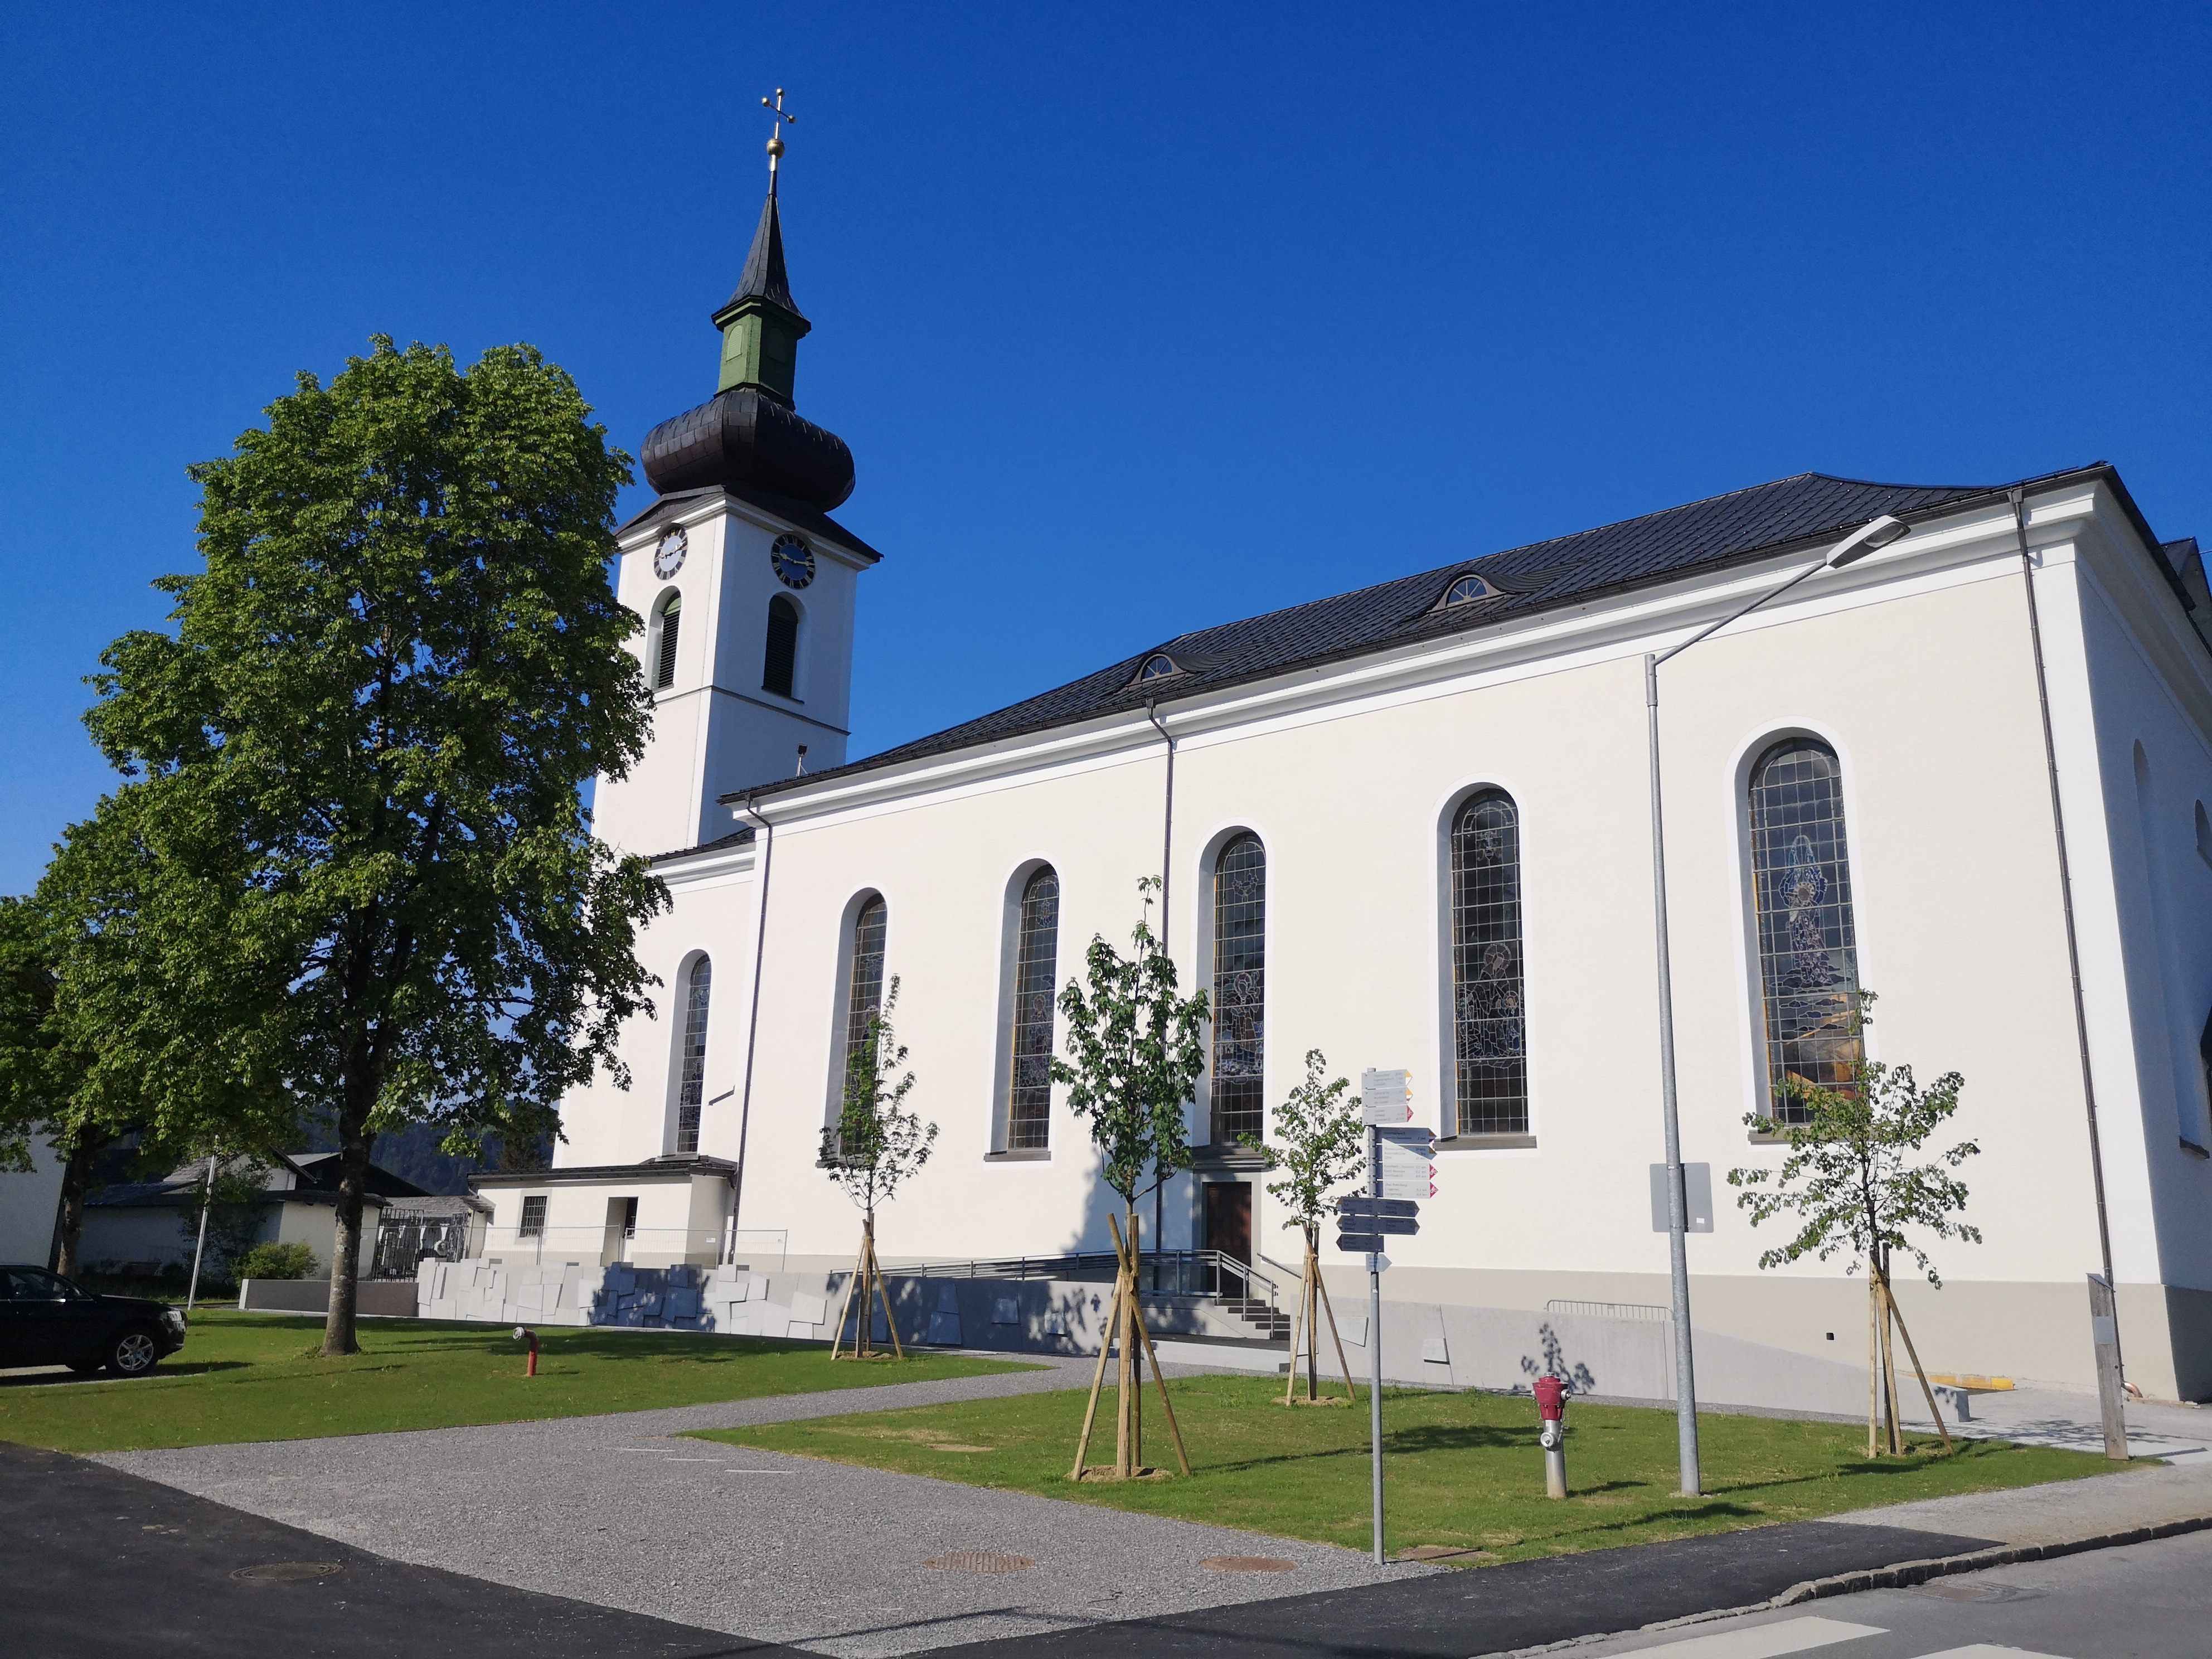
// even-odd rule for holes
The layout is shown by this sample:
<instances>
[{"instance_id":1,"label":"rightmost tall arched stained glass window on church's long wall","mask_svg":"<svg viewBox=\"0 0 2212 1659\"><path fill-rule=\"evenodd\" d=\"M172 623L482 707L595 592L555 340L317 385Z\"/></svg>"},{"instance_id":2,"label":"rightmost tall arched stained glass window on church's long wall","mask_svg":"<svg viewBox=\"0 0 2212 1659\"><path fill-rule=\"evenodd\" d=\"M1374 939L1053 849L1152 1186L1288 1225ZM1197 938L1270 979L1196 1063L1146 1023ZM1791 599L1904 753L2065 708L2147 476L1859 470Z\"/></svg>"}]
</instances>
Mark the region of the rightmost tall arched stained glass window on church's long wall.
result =
<instances>
[{"instance_id":1,"label":"rightmost tall arched stained glass window on church's long wall","mask_svg":"<svg viewBox=\"0 0 2212 1659\"><path fill-rule=\"evenodd\" d=\"M1843 1088L1865 1053L1836 750L1812 737L1776 743L1752 768L1750 807L1767 1113L1803 1124L1790 1079Z\"/></svg>"}]
</instances>

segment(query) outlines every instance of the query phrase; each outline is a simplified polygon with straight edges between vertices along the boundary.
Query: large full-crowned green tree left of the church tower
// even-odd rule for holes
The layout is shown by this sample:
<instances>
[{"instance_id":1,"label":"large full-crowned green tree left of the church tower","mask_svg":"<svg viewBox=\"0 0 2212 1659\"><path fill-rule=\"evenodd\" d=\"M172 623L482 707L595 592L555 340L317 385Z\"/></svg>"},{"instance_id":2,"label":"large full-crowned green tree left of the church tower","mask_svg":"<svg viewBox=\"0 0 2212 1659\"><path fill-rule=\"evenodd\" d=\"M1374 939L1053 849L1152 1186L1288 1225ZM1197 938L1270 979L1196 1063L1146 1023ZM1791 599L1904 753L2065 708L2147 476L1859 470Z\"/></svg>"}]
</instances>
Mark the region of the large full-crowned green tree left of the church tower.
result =
<instances>
[{"instance_id":1,"label":"large full-crowned green tree left of the church tower","mask_svg":"<svg viewBox=\"0 0 2212 1659\"><path fill-rule=\"evenodd\" d=\"M192 478L175 633L95 679L126 783L58 858L62 1011L100 1035L88 1088L166 1141L332 1126L323 1352L349 1354L374 1135L535 1139L595 1068L628 1082L635 929L668 900L577 794L648 732L606 582L628 460L526 345L460 369L376 338Z\"/></svg>"}]
</instances>

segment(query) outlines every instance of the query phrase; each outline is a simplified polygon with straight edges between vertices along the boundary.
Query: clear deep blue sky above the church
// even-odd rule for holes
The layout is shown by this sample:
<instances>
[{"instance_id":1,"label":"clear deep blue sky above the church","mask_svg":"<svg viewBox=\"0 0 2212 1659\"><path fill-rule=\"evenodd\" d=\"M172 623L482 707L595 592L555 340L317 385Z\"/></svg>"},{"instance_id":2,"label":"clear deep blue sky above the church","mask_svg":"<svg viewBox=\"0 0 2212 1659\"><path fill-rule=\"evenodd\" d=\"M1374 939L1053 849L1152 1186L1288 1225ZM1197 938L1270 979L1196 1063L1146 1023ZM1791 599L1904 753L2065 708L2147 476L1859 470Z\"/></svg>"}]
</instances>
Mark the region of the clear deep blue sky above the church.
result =
<instances>
[{"instance_id":1,"label":"clear deep blue sky above the church","mask_svg":"<svg viewBox=\"0 0 2212 1659\"><path fill-rule=\"evenodd\" d=\"M2208 71L2201 4L11 7L0 891L296 369L533 341L633 453L714 389L776 84L865 754L1805 469L2212 535Z\"/></svg>"}]
</instances>

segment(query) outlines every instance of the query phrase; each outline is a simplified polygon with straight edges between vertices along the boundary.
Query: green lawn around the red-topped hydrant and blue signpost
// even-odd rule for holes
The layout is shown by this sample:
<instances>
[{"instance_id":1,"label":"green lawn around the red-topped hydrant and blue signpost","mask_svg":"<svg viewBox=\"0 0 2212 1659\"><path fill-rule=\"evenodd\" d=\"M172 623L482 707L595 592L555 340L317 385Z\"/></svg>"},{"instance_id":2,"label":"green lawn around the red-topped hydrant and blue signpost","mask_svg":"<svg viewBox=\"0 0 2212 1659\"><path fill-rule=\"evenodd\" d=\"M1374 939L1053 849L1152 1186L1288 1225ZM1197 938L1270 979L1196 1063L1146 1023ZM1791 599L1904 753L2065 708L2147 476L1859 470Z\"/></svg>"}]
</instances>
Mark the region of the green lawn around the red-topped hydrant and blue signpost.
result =
<instances>
[{"instance_id":1,"label":"green lawn around the red-topped hydrant and blue signpost","mask_svg":"<svg viewBox=\"0 0 2212 1659\"><path fill-rule=\"evenodd\" d=\"M1279 1405L1283 1385L1265 1378L1203 1376L1170 1387L1190 1449L1190 1480L1071 1482L1082 1391L717 1429L701 1438L1367 1548L1365 1394L1358 1409L1290 1409ZM1991 1440L1962 1440L1953 1455L1869 1460L1865 1427L1705 1416L1699 1418L1705 1495L1677 1498L1672 1411L1573 1405L1566 1416L1573 1498L1551 1502L1531 1400L1385 1391L1387 1546L1433 1544L1524 1559L2110 1469L2090 1453ZM1175 1467L1150 1389L1146 1455ZM1091 1462L1113 1462L1110 1389L1099 1400Z\"/></svg>"}]
</instances>

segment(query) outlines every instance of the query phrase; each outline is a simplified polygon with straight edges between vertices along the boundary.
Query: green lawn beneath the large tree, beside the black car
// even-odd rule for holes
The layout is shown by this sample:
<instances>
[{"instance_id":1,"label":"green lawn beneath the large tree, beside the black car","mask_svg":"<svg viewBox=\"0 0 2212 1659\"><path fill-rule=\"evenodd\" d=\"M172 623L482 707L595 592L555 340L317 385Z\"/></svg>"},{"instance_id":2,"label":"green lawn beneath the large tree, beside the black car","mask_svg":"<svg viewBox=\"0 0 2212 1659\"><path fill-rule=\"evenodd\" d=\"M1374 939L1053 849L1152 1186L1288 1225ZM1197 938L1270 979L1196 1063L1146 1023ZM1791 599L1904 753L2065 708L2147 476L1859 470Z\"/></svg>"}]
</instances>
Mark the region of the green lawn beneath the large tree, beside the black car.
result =
<instances>
[{"instance_id":1,"label":"green lawn beneath the large tree, beside the black car","mask_svg":"<svg viewBox=\"0 0 2212 1659\"><path fill-rule=\"evenodd\" d=\"M184 1349L153 1376L0 1376L0 1440L55 1451L312 1440L1026 1369L951 1354L832 1365L825 1347L684 1332L540 1329L538 1338L529 1378L507 1325L365 1318L361 1354L325 1360L321 1321L199 1310Z\"/></svg>"}]
</instances>

